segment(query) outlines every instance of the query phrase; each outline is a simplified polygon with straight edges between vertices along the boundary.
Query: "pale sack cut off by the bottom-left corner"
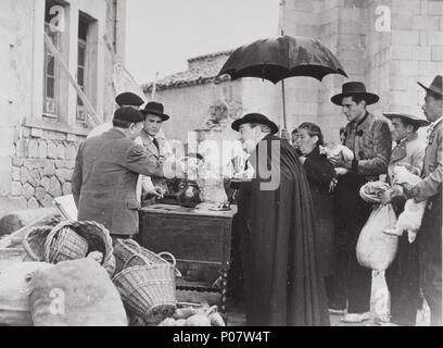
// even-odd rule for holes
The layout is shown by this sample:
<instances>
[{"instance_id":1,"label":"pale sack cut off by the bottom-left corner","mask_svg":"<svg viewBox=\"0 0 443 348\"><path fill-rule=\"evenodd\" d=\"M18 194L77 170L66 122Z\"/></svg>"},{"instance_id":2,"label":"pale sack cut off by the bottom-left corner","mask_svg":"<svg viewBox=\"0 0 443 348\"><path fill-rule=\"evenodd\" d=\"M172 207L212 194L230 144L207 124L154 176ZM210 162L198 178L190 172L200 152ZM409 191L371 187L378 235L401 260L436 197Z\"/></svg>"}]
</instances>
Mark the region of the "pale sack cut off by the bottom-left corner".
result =
<instances>
[{"instance_id":1,"label":"pale sack cut off by the bottom-left corner","mask_svg":"<svg viewBox=\"0 0 443 348\"><path fill-rule=\"evenodd\" d=\"M33 326L29 282L34 272L51 266L45 262L20 262L0 273L0 325Z\"/></svg>"}]
</instances>

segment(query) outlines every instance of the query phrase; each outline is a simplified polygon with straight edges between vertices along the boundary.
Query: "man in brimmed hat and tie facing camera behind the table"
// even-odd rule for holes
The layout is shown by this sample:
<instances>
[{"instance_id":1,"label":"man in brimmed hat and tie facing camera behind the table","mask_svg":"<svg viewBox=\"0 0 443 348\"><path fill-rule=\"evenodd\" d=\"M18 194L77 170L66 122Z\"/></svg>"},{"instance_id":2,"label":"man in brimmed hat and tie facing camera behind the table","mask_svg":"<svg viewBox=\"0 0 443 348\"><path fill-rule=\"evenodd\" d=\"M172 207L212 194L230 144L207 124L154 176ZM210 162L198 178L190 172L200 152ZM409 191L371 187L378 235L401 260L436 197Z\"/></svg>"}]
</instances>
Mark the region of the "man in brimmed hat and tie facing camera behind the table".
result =
<instances>
[{"instance_id":1,"label":"man in brimmed hat and tie facing camera behind the table","mask_svg":"<svg viewBox=\"0 0 443 348\"><path fill-rule=\"evenodd\" d=\"M137 142L144 147L153 160L163 163L172 154L165 134L162 130L163 122L169 120L169 116L164 113L163 104L154 101L147 103L140 112L144 115L144 125ZM142 195L147 200L162 197L167 192L165 178L142 175L141 187Z\"/></svg>"}]
</instances>

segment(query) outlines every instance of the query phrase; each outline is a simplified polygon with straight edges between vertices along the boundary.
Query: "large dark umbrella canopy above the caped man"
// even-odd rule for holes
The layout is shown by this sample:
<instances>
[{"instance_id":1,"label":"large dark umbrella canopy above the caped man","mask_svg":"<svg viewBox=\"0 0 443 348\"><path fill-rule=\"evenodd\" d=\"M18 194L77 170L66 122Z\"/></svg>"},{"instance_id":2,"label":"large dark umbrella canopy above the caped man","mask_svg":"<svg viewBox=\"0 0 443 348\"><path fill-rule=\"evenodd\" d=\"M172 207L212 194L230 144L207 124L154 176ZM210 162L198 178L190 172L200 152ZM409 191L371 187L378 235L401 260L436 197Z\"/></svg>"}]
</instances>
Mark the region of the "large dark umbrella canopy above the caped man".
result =
<instances>
[{"instance_id":1,"label":"large dark umbrella canopy above the caped man","mask_svg":"<svg viewBox=\"0 0 443 348\"><path fill-rule=\"evenodd\" d=\"M302 36L262 39L238 48L219 75L232 79L260 77L274 84L292 76L321 79L328 74L347 77L337 57L320 41Z\"/></svg>"}]
</instances>

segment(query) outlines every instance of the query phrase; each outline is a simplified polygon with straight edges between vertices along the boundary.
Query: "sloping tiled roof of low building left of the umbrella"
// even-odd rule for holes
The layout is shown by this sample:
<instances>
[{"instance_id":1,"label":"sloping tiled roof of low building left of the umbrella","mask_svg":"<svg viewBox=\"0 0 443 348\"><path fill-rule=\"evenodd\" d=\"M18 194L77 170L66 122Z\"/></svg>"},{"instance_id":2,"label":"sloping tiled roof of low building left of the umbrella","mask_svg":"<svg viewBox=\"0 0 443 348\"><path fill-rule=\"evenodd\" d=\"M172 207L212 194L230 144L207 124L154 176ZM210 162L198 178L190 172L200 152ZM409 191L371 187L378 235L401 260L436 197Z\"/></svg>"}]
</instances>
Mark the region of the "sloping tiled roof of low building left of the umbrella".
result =
<instances>
[{"instance_id":1,"label":"sloping tiled roof of low building left of the umbrella","mask_svg":"<svg viewBox=\"0 0 443 348\"><path fill-rule=\"evenodd\" d=\"M188 60L190 64L190 69L186 72L180 72L170 76L167 76L157 82L156 89L169 89L169 88L179 88L179 87L187 87L193 85L203 85L208 84L212 82L221 82L228 80L230 77L227 75L217 77L223 64L228 59L229 54L232 51L224 51L217 52L212 54L199 55L195 58L191 58ZM214 58L218 58L221 55L226 55L226 60L212 60ZM199 61L201 63L194 64ZM149 83L142 86L144 92L151 92L153 87L153 83Z\"/></svg>"}]
</instances>

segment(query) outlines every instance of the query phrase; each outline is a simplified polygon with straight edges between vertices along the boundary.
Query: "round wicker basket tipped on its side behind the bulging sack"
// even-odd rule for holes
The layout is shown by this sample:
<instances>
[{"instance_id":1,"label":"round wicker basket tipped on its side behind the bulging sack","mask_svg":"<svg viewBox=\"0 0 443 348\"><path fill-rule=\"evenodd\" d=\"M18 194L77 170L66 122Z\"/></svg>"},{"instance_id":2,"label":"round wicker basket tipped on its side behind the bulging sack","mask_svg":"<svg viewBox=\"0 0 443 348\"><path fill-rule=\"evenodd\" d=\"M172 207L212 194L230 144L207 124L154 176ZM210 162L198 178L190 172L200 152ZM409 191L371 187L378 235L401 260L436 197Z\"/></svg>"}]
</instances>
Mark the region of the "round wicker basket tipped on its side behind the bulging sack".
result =
<instances>
[{"instance_id":1,"label":"round wicker basket tipped on its side behind the bulging sack","mask_svg":"<svg viewBox=\"0 0 443 348\"><path fill-rule=\"evenodd\" d=\"M81 250L86 241L86 253ZM102 265L113 262L110 232L101 224L90 221L64 221L55 227L39 226L29 229L23 239L26 253L34 261L56 263L81 259L92 251L103 254Z\"/></svg>"}]
</instances>

